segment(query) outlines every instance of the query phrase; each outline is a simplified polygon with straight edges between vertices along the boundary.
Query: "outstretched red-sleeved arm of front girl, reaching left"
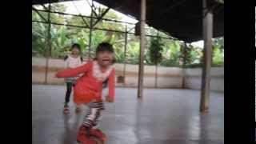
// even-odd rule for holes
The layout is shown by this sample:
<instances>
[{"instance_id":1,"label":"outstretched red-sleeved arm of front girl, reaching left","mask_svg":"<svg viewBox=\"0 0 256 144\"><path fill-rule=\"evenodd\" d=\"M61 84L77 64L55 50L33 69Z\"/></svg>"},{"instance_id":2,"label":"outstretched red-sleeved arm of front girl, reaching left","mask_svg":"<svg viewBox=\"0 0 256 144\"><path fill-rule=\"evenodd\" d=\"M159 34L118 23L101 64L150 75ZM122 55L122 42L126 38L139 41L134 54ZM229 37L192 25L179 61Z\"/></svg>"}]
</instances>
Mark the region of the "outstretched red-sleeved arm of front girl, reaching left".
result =
<instances>
[{"instance_id":1,"label":"outstretched red-sleeved arm of front girl, reaching left","mask_svg":"<svg viewBox=\"0 0 256 144\"><path fill-rule=\"evenodd\" d=\"M75 77L78 74L85 73L86 71L90 70L90 66L92 65L92 62L87 62L83 66L79 66L74 69L67 69L67 70L61 70L58 71L56 74L57 78L69 78L69 77Z\"/></svg>"}]
</instances>

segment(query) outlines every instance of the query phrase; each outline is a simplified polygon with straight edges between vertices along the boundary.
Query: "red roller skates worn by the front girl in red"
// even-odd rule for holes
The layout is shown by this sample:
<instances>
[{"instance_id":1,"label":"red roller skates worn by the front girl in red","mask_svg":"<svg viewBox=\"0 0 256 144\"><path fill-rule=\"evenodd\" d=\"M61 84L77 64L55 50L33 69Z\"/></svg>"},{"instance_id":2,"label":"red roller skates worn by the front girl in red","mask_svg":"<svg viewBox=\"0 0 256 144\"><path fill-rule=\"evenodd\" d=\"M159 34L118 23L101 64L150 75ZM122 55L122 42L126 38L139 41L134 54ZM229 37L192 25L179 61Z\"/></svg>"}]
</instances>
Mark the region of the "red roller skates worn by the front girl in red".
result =
<instances>
[{"instance_id":1,"label":"red roller skates worn by the front girl in red","mask_svg":"<svg viewBox=\"0 0 256 144\"><path fill-rule=\"evenodd\" d=\"M104 144L106 142L106 135L101 130L86 128L81 126L78 131L77 141L80 144Z\"/></svg>"}]
</instances>

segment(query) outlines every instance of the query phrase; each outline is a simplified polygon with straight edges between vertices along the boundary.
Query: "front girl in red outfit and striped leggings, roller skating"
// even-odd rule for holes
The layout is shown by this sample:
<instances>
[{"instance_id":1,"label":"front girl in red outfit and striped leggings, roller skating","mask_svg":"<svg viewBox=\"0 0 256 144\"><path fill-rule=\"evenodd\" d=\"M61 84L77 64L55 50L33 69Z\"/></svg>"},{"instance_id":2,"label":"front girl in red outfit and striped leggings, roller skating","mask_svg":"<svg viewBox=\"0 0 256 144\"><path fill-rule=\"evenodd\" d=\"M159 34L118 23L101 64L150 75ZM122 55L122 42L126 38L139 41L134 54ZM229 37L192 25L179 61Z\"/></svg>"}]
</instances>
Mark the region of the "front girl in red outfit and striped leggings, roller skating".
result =
<instances>
[{"instance_id":1,"label":"front girl in red outfit and striped leggings, roller skating","mask_svg":"<svg viewBox=\"0 0 256 144\"><path fill-rule=\"evenodd\" d=\"M106 102L114 102L114 83L115 70L112 66L114 62L114 50L109 43L100 43L96 50L94 61L87 62L84 66L75 69L62 70L56 74L57 78L74 77L78 74L84 74L78 78L74 86L74 102L76 104L89 104L89 111L86 114L82 126L78 131L78 142L90 143L90 134L96 134L105 139L106 136L100 130L94 130L98 119L104 110L102 100L103 82L108 81L109 93L106 96Z\"/></svg>"}]
</instances>

